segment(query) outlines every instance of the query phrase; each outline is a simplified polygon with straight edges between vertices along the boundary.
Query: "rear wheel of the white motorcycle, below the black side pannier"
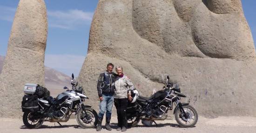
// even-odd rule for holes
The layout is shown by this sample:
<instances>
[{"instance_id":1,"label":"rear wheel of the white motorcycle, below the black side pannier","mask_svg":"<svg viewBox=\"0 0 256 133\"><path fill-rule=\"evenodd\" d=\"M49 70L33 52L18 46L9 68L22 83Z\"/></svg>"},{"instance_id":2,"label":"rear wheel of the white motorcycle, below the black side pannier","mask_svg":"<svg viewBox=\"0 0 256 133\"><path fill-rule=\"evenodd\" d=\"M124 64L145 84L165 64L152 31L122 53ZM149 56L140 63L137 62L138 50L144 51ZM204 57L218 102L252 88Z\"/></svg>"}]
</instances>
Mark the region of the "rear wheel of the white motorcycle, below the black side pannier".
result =
<instances>
[{"instance_id":1,"label":"rear wheel of the white motorcycle, below the black side pannier","mask_svg":"<svg viewBox=\"0 0 256 133\"><path fill-rule=\"evenodd\" d=\"M44 120L34 119L34 114L30 112L24 112L22 120L25 127L30 129L39 128L44 123Z\"/></svg>"}]
</instances>

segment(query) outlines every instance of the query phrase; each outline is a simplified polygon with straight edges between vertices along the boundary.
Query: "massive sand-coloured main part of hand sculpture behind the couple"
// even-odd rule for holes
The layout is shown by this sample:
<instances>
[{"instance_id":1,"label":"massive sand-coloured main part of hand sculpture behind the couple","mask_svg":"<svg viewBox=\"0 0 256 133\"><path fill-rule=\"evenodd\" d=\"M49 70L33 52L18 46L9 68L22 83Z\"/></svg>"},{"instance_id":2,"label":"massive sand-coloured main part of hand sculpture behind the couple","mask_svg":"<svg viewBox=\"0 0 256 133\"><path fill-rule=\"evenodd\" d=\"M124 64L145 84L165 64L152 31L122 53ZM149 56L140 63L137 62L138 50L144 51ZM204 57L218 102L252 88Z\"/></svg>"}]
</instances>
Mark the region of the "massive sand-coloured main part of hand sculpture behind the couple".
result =
<instances>
[{"instance_id":1,"label":"massive sand-coloured main part of hand sculpture behind the couple","mask_svg":"<svg viewBox=\"0 0 256 133\"><path fill-rule=\"evenodd\" d=\"M256 116L256 53L240 0L99 0L79 76L94 108L109 62L143 96L169 75L200 115Z\"/></svg>"}]
</instances>

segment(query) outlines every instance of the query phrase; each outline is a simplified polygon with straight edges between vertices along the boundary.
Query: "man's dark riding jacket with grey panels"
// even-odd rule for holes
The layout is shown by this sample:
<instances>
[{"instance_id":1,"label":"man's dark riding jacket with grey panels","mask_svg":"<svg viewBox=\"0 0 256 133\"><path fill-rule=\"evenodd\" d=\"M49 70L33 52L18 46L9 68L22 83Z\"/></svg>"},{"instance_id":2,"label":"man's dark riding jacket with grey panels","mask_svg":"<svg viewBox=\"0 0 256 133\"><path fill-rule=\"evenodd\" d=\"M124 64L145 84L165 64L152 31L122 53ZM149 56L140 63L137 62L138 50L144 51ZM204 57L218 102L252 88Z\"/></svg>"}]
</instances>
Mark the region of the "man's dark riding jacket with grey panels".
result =
<instances>
[{"instance_id":1,"label":"man's dark riding jacket with grey panels","mask_svg":"<svg viewBox=\"0 0 256 133\"><path fill-rule=\"evenodd\" d=\"M114 95L115 93L115 73L108 73L107 71L100 74L97 83L97 90L99 97L103 95Z\"/></svg>"}]
</instances>

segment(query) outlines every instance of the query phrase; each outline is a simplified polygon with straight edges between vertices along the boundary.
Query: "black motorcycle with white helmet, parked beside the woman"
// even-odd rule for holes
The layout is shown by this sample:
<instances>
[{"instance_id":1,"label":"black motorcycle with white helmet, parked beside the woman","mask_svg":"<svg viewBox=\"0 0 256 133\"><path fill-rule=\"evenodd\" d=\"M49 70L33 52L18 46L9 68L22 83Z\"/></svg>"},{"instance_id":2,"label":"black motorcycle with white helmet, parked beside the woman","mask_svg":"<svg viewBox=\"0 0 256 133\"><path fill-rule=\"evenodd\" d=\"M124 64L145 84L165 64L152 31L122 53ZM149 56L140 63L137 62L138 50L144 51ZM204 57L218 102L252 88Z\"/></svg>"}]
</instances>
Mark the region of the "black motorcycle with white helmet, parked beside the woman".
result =
<instances>
[{"instance_id":1,"label":"black motorcycle with white helmet, parked beside the woman","mask_svg":"<svg viewBox=\"0 0 256 133\"><path fill-rule=\"evenodd\" d=\"M174 115L175 120L181 127L194 127L198 114L189 103L181 103L181 97L186 95L181 93L180 88L172 88L173 84L169 82L167 76L166 86L162 90L157 91L151 97L140 96L137 90L132 93L136 100L128 104L127 120L129 127L135 127L141 120L144 126L151 126L155 120L165 120L168 110L173 109L175 104ZM157 124L156 124L157 125Z\"/></svg>"}]
</instances>

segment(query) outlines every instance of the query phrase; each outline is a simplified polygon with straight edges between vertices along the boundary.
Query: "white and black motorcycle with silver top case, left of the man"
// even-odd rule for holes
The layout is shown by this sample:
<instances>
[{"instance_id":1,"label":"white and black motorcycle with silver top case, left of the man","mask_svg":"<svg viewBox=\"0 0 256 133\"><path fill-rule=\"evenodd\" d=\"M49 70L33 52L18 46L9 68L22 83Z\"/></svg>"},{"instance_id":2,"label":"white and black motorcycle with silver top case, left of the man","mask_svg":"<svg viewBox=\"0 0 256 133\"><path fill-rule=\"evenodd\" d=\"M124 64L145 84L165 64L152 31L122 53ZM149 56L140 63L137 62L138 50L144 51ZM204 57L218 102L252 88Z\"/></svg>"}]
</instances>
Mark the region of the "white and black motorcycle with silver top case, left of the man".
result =
<instances>
[{"instance_id":1,"label":"white and black motorcycle with silver top case, left of the man","mask_svg":"<svg viewBox=\"0 0 256 133\"><path fill-rule=\"evenodd\" d=\"M74 82L74 74L72 74L72 89L62 92L54 99L54 104L49 101L38 98L34 95L36 85L26 84L25 95L22 101L23 123L27 128L39 128L44 121L67 122L71 114L75 113L77 123L82 128L94 128L98 123L98 115L96 111L89 105L85 105L83 101L89 99L83 89L76 89L78 82ZM31 93L32 92L32 93ZM27 106L26 106L27 105ZM57 114L57 115L54 115Z\"/></svg>"}]
</instances>

